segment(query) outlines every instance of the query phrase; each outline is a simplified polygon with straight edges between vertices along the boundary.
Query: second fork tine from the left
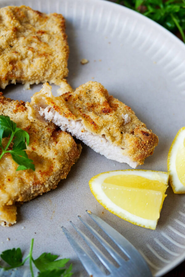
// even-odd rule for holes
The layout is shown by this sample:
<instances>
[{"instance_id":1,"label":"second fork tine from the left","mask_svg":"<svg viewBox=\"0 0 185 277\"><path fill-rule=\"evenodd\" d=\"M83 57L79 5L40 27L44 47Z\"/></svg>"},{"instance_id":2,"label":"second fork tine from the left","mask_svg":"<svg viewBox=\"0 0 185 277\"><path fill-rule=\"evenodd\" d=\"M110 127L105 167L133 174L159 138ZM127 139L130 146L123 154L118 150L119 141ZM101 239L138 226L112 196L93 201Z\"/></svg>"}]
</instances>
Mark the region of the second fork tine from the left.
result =
<instances>
[{"instance_id":1,"label":"second fork tine from the left","mask_svg":"<svg viewBox=\"0 0 185 277\"><path fill-rule=\"evenodd\" d=\"M104 264L104 266L111 272L115 269L113 263L103 254L103 252L80 230L78 229L72 221L70 221L71 225L75 228L78 234L84 239L84 241L88 244L91 250L97 255L100 261Z\"/></svg>"}]
</instances>

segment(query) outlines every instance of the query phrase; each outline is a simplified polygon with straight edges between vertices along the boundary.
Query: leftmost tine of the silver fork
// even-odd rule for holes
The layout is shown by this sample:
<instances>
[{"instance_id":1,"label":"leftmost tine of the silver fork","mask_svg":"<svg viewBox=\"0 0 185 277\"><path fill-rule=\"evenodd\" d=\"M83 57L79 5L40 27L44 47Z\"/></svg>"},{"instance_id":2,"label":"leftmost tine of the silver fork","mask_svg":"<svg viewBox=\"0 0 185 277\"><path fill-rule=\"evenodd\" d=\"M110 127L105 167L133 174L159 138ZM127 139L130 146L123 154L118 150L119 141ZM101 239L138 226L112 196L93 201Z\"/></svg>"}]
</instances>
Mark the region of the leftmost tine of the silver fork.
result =
<instances>
[{"instance_id":1,"label":"leftmost tine of the silver fork","mask_svg":"<svg viewBox=\"0 0 185 277\"><path fill-rule=\"evenodd\" d=\"M73 238L73 236L69 233L69 231L62 226L62 231L66 235L68 241L70 242L71 246L75 250L78 258L80 259L81 263L83 264L84 268L88 272L89 275L94 276L104 276L98 265L93 261L93 259L88 255L88 253L84 250L79 243Z\"/></svg>"}]
</instances>

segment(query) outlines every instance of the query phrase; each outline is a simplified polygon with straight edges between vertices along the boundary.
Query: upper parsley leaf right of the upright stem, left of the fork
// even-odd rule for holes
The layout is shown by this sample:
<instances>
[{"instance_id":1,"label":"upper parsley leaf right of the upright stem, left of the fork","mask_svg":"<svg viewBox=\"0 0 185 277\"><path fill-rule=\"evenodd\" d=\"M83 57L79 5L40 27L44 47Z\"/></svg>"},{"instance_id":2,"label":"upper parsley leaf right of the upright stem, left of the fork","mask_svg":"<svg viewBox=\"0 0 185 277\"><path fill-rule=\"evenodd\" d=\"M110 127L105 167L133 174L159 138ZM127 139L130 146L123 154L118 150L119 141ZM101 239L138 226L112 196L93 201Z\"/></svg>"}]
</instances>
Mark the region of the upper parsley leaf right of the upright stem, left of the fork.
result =
<instances>
[{"instance_id":1,"label":"upper parsley leaf right of the upright stem, left of the fork","mask_svg":"<svg viewBox=\"0 0 185 277\"><path fill-rule=\"evenodd\" d=\"M33 260L35 266L39 269L40 272L43 271L52 271L54 269L61 269L69 261L69 259L60 259L57 255L52 255L51 253L43 253L39 258ZM56 260L56 261L55 261Z\"/></svg>"}]
</instances>

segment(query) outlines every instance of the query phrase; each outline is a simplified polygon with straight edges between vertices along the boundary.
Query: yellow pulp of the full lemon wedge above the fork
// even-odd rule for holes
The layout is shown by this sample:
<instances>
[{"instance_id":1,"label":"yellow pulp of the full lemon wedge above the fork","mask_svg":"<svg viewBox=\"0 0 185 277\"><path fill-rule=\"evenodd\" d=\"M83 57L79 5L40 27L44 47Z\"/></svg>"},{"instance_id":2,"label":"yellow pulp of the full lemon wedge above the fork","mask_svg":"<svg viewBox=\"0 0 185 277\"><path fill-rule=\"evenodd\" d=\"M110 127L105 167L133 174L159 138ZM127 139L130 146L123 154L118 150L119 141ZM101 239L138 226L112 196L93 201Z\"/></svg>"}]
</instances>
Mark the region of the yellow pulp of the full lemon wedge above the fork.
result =
<instances>
[{"instance_id":1,"label":"yellow pulp of the full lemon wedge above the fork","mask_svg":"<svg viewBox=\"0 0 185 277\"><path fill-rule=\"evenodd\" d=\"M138 175L117 175L104 180L102 189L122 209L145 219L159 218L166 186Z\"/></svg>"}]
</instances>

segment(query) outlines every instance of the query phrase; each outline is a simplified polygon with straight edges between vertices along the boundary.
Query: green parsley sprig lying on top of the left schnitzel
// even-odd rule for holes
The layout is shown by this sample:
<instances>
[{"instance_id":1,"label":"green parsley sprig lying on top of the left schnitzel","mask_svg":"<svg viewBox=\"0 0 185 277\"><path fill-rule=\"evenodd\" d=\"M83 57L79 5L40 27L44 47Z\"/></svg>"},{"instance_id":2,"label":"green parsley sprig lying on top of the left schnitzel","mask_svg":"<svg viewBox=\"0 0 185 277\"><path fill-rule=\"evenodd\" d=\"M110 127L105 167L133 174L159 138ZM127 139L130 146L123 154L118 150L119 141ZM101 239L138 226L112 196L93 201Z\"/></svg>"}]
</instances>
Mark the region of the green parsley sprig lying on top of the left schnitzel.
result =
<instances>
[{"instance_id":1,"label":"green parsley sprig lying on top of the left schnitzel","mask_svg":"<svg viewBox=\"0 0 185 277\"><path fill-rule=\"evenodd\" d=\"M8 140L8 143L6 144L5 148L3 148L2 139L9 136L10 139ZM2 148L0 159L5 153L10 153L12 159L17 164L19 164L19 167L16 169L16 171L25 170L29 168L35 171L33 161L28 158L28 155L25 151L25 140L27 145L29 145L29 134L26 131L17 128L16 123L10 120L9 116L0 115L0 147ZM12 149L8 150L8 147L10 146L12 141L13 147Z\"/></svg>"}]
</instances>

